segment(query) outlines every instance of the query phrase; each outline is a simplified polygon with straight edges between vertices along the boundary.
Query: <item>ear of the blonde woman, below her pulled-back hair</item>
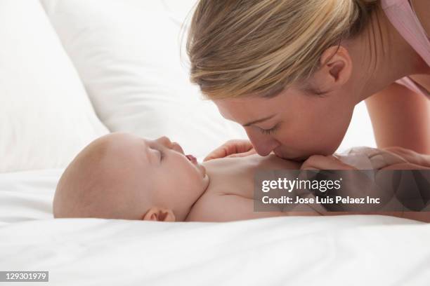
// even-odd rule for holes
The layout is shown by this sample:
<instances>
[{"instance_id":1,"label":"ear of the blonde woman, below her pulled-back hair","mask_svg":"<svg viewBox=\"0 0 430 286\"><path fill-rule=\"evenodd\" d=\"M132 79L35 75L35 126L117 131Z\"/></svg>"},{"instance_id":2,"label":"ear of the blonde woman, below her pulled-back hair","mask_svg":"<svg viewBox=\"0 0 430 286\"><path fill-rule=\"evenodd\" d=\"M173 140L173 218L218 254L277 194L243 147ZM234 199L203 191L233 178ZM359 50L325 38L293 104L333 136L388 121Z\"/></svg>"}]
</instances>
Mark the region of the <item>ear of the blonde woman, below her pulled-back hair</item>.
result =
<instances>
[{"instance_id":1,"label":"ear of the blonde woman, below her pulled-back hair","mask_svg":"<svg viewBox=\"0 0 430 286\"><path fill-rule=\"evenodd\" d=\"M320 57L320 69L313 74L308 90L329 93L343 86L352 73L352 60L343 46L332 46Z\"/></svg>"}]
</instances>

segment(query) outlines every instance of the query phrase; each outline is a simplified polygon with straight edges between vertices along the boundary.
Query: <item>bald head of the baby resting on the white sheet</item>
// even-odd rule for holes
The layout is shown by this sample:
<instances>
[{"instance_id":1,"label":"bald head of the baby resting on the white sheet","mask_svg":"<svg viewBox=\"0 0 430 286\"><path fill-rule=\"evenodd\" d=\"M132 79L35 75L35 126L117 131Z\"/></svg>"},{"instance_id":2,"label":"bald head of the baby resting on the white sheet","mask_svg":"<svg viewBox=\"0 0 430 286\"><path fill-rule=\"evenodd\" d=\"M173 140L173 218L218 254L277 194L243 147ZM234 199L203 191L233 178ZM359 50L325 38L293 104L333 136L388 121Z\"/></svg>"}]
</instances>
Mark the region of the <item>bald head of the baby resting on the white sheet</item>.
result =
<instances>
[{"instance_id":1,"label":"bald head of the baby resting on the white sheet","mask_svg":"<svg viewBox=\"0 0 430 286\"><path fill-rule=\"evenodd\" d=\"M85 147L58 182L54 217L183 221L209 185L193 156L167 137L112 133Z\"/></svg>"}]
</instances>

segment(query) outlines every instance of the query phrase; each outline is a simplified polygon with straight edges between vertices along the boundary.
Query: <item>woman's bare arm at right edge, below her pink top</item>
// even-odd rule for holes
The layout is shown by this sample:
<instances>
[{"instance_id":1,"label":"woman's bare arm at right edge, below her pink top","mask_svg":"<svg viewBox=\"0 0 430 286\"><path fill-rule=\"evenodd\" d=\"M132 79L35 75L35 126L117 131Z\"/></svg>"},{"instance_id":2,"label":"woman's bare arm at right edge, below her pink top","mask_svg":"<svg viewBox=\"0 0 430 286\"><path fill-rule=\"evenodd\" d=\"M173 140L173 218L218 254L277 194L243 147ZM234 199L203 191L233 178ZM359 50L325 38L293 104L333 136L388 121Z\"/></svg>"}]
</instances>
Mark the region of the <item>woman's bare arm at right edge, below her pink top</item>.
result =
<instances>
[{"instance_id":1,"label":"woman's bare arm at right edge, below her pink top","mask_svg":"<svg viewBox=\"0 0 430 286\"><path fill-rule=\"evenodd\" d=\"M398 146L430 154L430 100L392 83L366 100L378 148Z\"/></svg>"}]
</instances>

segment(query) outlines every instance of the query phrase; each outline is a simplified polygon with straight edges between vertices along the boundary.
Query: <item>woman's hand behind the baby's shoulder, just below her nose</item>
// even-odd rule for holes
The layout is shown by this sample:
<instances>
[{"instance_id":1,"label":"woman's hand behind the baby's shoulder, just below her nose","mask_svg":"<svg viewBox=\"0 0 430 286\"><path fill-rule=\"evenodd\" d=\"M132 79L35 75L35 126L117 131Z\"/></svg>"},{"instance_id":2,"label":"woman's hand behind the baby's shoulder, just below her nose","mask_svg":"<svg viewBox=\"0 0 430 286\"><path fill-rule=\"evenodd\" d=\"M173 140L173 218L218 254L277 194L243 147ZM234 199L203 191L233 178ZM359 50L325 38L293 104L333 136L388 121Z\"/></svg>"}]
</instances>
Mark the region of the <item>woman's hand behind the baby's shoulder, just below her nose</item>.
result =
<instances>
[{"instance_id":1,"label":"woman's hand behind the baby's shoulder, just below her nose","mask_svg":"<svg viewBox=\"0 0 430 286\"><path fill-rule=\"evenodd\" d=\"M204 158L204 161L225 157L245 157L252 154L256 154L256 151L249 140L235 139L229 140L214 151L211 151L211 153Z\"/></svg>"}]
</instances>

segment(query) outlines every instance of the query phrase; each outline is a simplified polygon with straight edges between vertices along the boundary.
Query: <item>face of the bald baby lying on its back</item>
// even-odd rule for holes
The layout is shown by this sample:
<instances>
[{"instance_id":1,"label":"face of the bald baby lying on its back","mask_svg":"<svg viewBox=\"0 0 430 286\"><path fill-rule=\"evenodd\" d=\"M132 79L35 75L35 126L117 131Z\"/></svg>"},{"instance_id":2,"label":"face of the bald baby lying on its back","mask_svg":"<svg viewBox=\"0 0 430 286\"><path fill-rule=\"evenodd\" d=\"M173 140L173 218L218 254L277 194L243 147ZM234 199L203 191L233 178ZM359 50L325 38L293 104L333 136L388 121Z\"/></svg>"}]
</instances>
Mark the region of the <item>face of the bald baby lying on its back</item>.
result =
<instances>
[{"instance_id":1,"label":"face of the bald baby lying on its back","mask_svg":"<svg viewBox=\"0 0 430 286\"><path fill-rule=\"evenodd\" d=\"M130 138L136 142L134 152L143 154L137 164L141 174L150 185L145 184L152 195L153 205L174 210L176 219L183 220L195 201L209 185L205 168L195 157L185 156L183 149L167 137L145 140Z\"/></svg>"}]
</instances>

